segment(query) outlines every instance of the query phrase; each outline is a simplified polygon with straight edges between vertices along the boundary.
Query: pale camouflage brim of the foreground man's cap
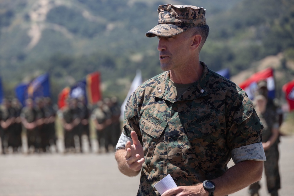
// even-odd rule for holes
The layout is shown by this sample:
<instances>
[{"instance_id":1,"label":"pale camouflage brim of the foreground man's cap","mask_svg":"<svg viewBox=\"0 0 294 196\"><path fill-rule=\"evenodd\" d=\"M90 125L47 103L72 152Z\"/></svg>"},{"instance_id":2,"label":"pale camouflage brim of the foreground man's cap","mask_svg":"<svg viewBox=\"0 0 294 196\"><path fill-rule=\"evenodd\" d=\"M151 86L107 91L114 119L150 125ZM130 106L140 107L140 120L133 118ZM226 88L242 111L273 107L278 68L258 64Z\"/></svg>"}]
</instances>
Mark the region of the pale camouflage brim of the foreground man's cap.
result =
<instances>
[{"instance_id":1,"label":"pale camouflage brim of the foreground man's cap","mask_svg":"<svg viewBox=\"0 0 294 196\"><path fill-rule=\"evenodd\" d=\"M188 27L178 27L173 24L158 24L153 29L148 31L145 35L147 37L155 37L155 36L173 36L183 31L186 31Z\"/></svg>"}]
</instances>

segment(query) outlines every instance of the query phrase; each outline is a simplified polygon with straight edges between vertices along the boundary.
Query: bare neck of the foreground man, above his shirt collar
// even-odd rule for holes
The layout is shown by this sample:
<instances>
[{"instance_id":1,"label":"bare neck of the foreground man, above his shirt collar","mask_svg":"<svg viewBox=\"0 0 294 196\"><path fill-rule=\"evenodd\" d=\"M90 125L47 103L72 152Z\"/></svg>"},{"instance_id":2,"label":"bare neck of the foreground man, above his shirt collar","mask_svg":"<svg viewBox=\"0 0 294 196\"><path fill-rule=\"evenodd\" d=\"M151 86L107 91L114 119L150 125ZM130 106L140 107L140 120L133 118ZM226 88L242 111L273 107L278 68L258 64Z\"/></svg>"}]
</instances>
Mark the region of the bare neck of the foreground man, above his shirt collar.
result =
<instances>
[{"instance_id":1,"label":"bare neck of the foreground man, above his shirt collar","mask_svg":"<svg viewBox=\"0 0 294 196\"><path fill-rule=\"evenodd\" d=\"M178 84L190 84L198 81L201 78L203 66L198 63L193 66L187 66L183 70L170 70L170 79Z\"/></svg>"}]
</instances>

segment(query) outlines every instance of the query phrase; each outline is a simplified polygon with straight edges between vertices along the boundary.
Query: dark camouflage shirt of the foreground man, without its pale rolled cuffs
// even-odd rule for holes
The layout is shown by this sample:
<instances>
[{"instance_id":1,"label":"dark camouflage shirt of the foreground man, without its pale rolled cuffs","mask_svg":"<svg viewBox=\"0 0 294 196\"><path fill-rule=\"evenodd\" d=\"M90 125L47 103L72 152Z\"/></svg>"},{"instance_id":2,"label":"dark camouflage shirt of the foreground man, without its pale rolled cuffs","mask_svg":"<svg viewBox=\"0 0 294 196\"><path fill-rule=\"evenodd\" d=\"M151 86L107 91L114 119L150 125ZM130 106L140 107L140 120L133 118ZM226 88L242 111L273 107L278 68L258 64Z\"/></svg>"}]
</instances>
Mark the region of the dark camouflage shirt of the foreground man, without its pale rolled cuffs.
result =
<instances>
[{"instance_id":1,"label":"dark camouflage shirt of the foreground man, without its pale rolled cuffs","mask_svg":"<svg viewBox=\"0 0 294 196\"><path fill-rule=\"evenodd\" d=\"M154 185L170 174L178 186L225 173L231 150L261 142L252 101L233 82L203 65L201 78L176 98L169 71L143 83L126 104L124 134L143 145L138 195L159 195Z\"/></svg>"}]
</instances>

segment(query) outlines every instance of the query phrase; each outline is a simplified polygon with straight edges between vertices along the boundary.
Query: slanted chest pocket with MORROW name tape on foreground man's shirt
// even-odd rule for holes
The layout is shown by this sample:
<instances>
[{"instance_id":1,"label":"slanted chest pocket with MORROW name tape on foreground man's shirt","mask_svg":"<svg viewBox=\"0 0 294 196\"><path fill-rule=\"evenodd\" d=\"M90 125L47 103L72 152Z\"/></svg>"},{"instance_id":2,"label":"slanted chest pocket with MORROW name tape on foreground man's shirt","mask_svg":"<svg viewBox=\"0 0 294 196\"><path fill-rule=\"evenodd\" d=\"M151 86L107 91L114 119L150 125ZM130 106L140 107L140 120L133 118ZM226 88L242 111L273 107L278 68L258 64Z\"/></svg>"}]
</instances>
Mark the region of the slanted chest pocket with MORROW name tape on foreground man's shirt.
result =
<instances>
[{"instance_id":1,"label":"slanted chest pocket with MORROW name tape on foreground man's shirt","mask_svg":"<svg viewBox=\"0 0 294 196\"><path fill-rule=\"evenodd\" d=\"M166 128L167 123L153 113L145 110L140 119L140 129L142 132L142 142L144 148L145 164L150 167L154 149L158 140Z\"/></svg>"}]
</instances>

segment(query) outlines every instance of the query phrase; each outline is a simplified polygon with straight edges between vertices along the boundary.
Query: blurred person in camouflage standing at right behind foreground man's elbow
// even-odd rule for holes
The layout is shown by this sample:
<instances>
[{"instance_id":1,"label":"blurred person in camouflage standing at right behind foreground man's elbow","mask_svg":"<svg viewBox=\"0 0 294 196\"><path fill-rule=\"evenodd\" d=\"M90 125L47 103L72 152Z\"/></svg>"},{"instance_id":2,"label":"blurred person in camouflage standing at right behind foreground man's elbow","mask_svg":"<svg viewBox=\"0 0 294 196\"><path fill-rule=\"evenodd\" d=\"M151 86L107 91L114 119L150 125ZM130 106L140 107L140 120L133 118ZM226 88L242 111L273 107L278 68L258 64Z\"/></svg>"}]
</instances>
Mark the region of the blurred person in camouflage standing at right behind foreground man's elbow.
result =
<instances>
[{"instance_id":1,"label":"blurred person in camouflage standing at right behind foreground man's elbow","mask_svg":"<svg viewBox=\"0 0 294 196\"><path fill-rule=\"evenodd\" d=\"M267 100L264 95L258 95L254 98L256 113L264 125L262 144L267 159L264 163L264 169L268 192L271 196L278 196L278 190L281 188L278 166L279 120L275 109L268 106ZM259 182L253 183L249 186L250 195L258 196L259 189Z\"/></svg>"}]
</instances>

